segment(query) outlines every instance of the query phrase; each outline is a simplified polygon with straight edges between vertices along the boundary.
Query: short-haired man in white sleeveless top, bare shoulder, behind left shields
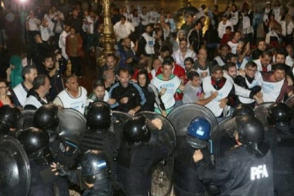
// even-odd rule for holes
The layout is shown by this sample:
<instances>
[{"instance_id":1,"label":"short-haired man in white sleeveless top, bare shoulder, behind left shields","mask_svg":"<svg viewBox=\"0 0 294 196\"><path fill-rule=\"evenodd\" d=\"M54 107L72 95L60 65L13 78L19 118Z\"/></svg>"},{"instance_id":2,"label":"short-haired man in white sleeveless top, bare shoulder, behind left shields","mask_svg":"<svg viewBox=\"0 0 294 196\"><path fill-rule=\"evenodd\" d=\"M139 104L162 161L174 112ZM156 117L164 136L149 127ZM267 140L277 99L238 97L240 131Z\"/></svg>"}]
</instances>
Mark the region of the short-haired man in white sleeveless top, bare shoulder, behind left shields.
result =
<instances>
[{"instance_id":1,"label":"short-haired man in white sleeveless top, bare shoulder, behind left shields","mask_svg":"<svg viewBox=\"0 0 294 196\"><path fill-rule=\"evenodd\" d=\"M87 101L87 90L79 86L76 75L68 76L65 86L66 89L57 95L53 103L64 108L73 108L84 114Z\"/></svg>"}]
</instances>

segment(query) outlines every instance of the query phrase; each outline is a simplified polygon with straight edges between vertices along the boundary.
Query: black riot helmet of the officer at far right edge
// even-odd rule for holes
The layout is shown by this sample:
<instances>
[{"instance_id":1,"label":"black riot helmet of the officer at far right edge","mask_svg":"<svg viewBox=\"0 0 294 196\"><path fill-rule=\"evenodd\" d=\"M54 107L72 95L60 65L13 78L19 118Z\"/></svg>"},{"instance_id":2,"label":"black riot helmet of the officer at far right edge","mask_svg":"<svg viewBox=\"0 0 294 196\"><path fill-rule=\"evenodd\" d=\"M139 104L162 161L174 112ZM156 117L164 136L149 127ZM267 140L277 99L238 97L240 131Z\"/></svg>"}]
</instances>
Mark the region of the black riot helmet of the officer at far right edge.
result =
<instances>
[{"instance_id":1,"label":"black riot helmet of the officer at far right edge","mask_svg":"<svg viewBox=\"0 0 294 196\"><path fill-rule=\"evenodd\" d=\"M274 103L268 110L268 123L270 125L290 125L292 120L291 108L285 103Z\"/></svg>"}]
</instances>

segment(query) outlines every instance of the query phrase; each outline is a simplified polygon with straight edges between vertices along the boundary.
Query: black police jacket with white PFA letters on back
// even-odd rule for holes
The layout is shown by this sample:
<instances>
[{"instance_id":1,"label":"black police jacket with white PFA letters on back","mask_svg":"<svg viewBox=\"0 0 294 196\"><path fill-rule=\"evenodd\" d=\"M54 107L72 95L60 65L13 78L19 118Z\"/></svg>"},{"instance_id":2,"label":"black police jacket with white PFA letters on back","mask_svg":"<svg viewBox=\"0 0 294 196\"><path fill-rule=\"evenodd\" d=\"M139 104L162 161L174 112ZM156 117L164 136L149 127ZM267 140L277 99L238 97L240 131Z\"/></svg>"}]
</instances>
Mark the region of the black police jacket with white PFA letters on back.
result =
<instances>
[{"instance_id":1,"label":"black police jacket with white PFA letters on back","mask_svg":"<svg viewBox=\"0 0 294 196\"><path fill-rule=\"evenodd\" d=\"M243 145L220 158L214 169L207 169L204 160L196 162L196 169L201 181L221 187L220 196L273 196L270 150L254 157Z\"/></svg>"}]
</instances>

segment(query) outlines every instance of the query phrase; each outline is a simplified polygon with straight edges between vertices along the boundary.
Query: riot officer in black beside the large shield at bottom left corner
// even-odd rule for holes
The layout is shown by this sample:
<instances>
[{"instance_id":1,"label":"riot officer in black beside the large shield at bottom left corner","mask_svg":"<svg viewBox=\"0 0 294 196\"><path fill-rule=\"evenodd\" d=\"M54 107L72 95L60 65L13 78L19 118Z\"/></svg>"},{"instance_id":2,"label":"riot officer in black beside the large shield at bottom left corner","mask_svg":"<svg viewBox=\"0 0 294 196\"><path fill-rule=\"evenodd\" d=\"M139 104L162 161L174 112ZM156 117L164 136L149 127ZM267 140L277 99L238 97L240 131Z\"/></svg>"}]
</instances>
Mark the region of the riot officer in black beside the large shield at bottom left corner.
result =
<instances>
[{"instance_id":1,"label":"riot officer in black beside the large shield at bottom left corner","mask_svg":"<svg viewBox=\"0 0 294 196\"><path fill-rule=\"evenodd\" d=\"M50 171L54 161L49 149L48 134L41 129L30 127L17 133L17 138L25 148L31 170L31 186L28 196L69 196L68 187L63 185L66 178L55 176Z\"/></svg>"}]
</instances>

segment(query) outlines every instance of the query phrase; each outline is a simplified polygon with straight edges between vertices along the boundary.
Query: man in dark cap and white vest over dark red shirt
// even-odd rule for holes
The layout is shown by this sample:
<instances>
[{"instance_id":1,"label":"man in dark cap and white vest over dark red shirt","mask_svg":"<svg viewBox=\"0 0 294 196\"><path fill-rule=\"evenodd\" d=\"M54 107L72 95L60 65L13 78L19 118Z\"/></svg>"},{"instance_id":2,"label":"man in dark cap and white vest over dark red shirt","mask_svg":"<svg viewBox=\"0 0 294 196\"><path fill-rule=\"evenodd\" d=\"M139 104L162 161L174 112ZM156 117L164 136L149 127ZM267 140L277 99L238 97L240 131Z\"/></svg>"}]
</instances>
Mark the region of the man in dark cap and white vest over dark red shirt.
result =
<instances>
[{"instance_id":1,"label":"man in dark cap and white vest over dark red shirt","mask_svg":"<svg viewBox=\"0 0 294 196\"><path fill-rule=\"evenodd\" d=\"M211 76L203 79L202 88L205 94L204 98L208 98L215 91L218 92L218 96L205 106L217 118L226 117L230 106L234 103L235 89L233 84L223 77L221 66L216 65L212 68Z\"/></svg>"}]
</instances>

